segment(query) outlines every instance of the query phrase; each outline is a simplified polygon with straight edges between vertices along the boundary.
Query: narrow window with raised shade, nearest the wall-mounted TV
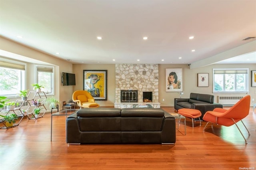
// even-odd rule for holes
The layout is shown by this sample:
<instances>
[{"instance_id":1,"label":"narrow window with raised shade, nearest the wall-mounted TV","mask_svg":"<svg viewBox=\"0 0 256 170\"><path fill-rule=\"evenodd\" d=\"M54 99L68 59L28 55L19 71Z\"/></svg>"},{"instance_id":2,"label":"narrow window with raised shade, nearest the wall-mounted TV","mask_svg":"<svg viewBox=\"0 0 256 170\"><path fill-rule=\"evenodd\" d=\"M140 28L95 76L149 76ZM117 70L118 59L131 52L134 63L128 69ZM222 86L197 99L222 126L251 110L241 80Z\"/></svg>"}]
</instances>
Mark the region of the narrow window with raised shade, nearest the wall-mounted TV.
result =
<instances>
[{"instance_id":1,"label":"narrow window with raised shade, nearest the wall-mounted TV","mask_svg":"<svg viewBox=\"0 0 256 170\"><path fill-rule=\"evenodd\" d=\"M36 66L36 80L46 94L54 95L54 67Z\"/></svg>"}]
</instances>

